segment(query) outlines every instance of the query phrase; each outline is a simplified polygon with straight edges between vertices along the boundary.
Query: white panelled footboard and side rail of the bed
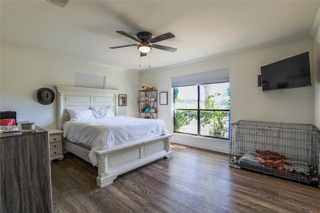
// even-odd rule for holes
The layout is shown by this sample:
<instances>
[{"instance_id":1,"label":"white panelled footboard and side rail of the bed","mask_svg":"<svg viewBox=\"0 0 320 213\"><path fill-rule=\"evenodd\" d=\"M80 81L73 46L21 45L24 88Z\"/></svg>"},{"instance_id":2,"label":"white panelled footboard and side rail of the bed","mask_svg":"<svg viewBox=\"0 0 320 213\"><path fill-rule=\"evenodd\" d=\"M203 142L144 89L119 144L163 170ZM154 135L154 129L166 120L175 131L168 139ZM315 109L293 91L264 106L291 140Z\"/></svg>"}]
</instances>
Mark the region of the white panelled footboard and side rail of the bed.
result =
<instances>
[{"instance_id":1,"label":"white panelled footboard and side rail of the bed","mask_svg":"<svg viewBox=\"0 0 320 213\"><path fill-rule=\"evenodd\" d=\"M106 186L120 174L133 170L161 157L171 157L170 138L172 134L161 135L152 139L96 151L98 175L96 184ZM88 151L63 140L63 148L88 160Z\"/></svg>"}]
</instances>

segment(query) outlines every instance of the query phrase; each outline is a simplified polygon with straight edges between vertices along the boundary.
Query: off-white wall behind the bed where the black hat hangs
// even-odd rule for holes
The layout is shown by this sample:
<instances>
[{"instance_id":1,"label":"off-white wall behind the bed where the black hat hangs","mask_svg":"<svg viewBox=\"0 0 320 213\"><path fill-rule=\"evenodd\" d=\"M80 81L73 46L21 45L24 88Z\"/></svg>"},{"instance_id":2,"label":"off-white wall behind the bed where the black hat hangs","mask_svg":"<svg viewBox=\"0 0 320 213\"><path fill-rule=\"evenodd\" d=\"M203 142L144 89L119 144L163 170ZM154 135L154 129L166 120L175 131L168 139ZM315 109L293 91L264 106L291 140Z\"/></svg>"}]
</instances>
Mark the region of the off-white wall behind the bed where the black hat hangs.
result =
<instances>
[{"instance_id":1,"label":"off-white wall behind the bed where the black hat hangs","mask_svg":"<svg viewBox=\"0 0 320 213\"><path fill-rule=\"evenodd\" d=\"M56 98L49 105L38 103L36 91L55 85L73 86L74 72L106 76L106 88L127 94L127 106L119 114L137 115L140 73L103 66L42 51L1 43L0 110L14 110L18 121L34 121L42 128L56 128Z\"/></svg>"}]
</instances>

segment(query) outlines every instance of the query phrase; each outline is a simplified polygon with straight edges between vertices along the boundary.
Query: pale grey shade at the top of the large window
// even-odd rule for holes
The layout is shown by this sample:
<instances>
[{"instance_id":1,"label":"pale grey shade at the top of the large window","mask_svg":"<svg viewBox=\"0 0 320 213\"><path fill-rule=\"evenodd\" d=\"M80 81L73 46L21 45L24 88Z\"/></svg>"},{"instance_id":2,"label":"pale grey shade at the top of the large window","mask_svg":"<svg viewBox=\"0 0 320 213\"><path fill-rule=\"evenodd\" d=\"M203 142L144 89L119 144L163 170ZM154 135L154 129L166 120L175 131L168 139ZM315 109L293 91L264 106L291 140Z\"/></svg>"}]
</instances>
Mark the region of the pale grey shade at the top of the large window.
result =
<instances>
[{"instance_id":1,"label":"pale grey shade at the top of the large window","mask_svg":"<svg viewBox=\"0 0 320 213\"><path fill-rule=\"evenodd\" d=\"M172 87L229 82L229 69L217 69L171 77Z\"/></svg>"}]
</instances>

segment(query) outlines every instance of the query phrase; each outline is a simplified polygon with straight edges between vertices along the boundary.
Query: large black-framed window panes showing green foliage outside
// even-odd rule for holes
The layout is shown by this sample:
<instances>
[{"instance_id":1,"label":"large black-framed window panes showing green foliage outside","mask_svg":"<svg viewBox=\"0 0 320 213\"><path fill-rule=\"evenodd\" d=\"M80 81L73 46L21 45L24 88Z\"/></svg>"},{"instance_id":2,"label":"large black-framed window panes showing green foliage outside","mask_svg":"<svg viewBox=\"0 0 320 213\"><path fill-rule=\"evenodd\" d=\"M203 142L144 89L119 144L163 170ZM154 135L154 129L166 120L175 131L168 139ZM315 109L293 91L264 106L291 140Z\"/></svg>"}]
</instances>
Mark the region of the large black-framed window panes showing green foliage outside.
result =
<instances>
[{"instance_id":1,"label":"large black-framed window panes showing green foliage outside","mask_svg":"<svg viewBox=\"0 0 320 213\"><path fill-rule=\"evenodd\" d=\"M229 139L229 82L174 87L174 132Z\"/></svg>"}]
</instances>

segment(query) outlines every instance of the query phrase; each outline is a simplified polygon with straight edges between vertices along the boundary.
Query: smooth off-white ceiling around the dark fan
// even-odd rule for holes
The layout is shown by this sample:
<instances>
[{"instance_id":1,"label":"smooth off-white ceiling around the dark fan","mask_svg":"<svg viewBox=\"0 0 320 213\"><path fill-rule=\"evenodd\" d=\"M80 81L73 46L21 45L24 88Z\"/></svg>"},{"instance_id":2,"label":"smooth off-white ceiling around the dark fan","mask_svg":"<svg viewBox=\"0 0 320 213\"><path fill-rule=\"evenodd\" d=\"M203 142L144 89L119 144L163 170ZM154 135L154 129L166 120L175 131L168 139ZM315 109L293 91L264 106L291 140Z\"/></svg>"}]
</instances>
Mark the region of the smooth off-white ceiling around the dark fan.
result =
<instances>
[{"instance_id":1,"label":"smooth off-white ceiling around the dark fan","mask_svg":"<svg viewBox=\"0 0 320 213\"><path fill-rule=\"evenodd\" d=\"M318 27L319 6L319 0L72 0L65 9L46 0L0 0L0 38L2 43L142 71L311 36ZM174 38L156 44L177 50L153 48L140 57L136 46L110 49L138 44L117 30L133 36L171 32Z\"/></svg>"}]
</instances>

